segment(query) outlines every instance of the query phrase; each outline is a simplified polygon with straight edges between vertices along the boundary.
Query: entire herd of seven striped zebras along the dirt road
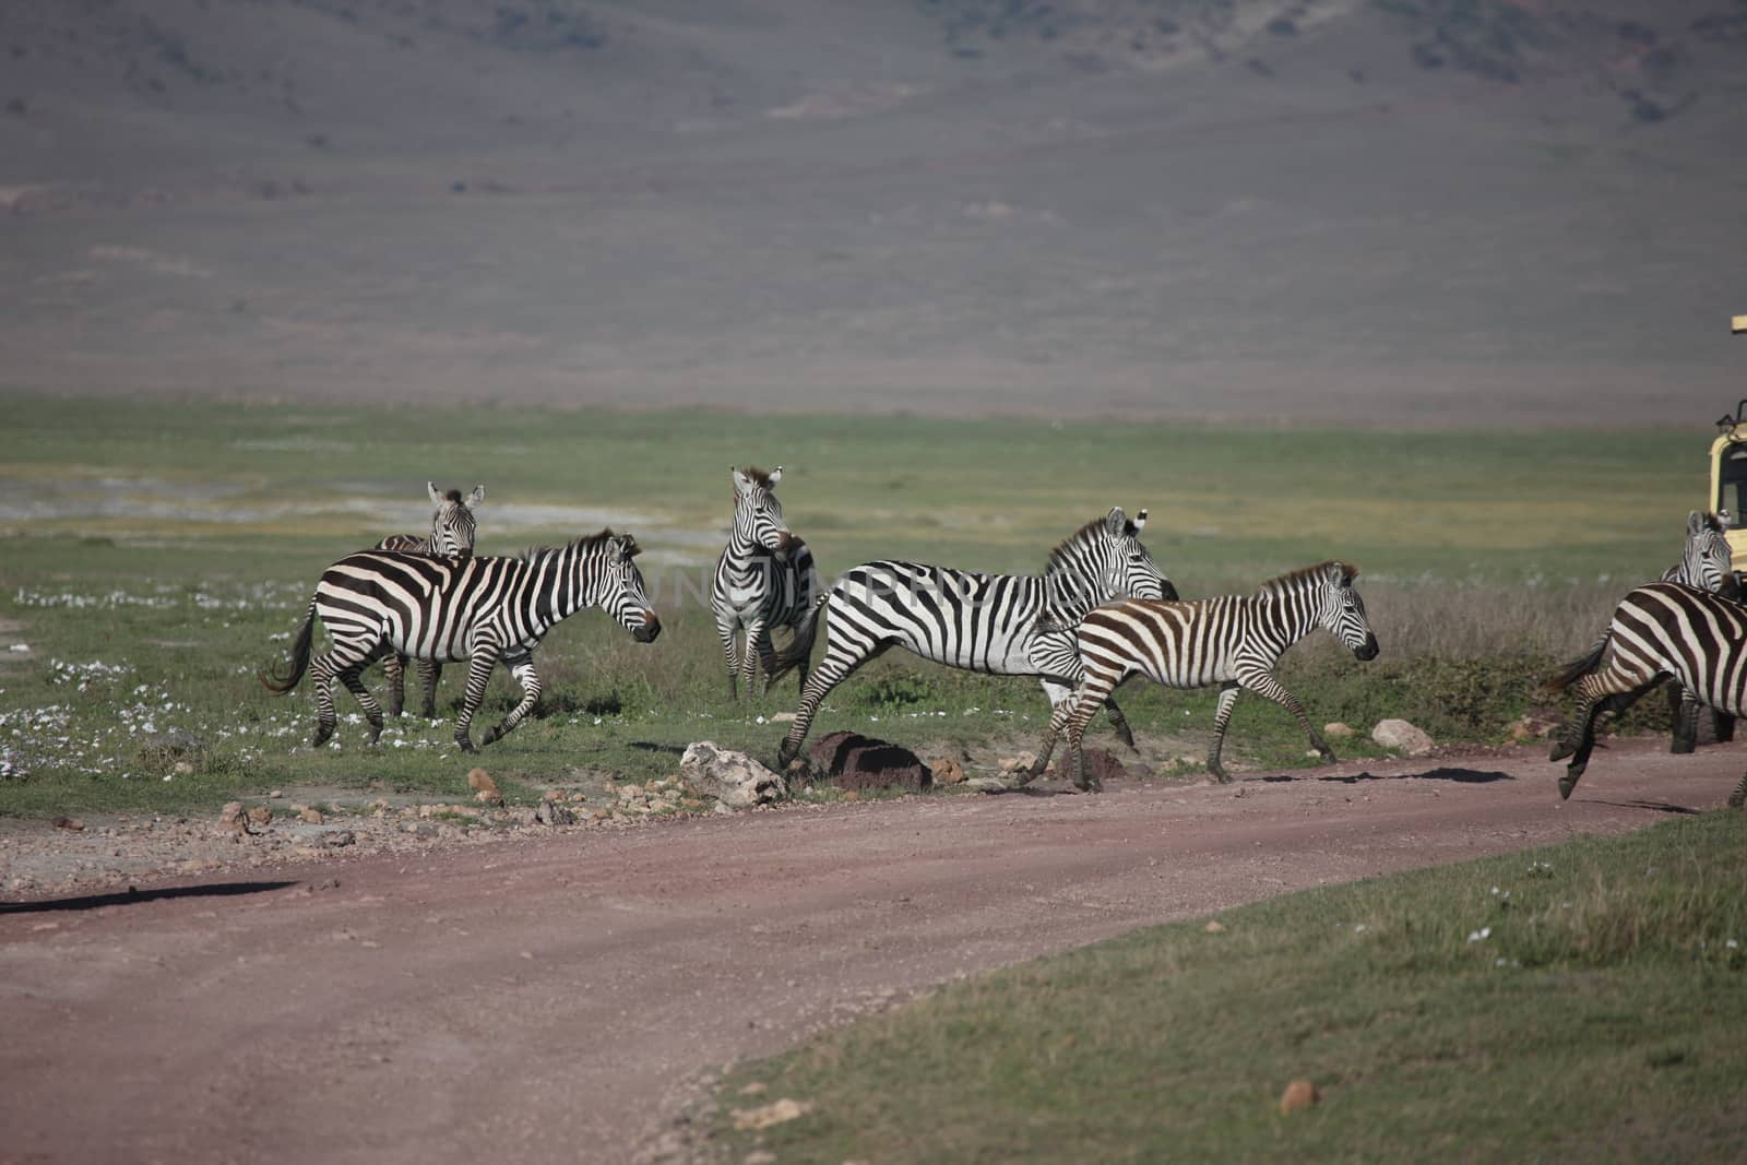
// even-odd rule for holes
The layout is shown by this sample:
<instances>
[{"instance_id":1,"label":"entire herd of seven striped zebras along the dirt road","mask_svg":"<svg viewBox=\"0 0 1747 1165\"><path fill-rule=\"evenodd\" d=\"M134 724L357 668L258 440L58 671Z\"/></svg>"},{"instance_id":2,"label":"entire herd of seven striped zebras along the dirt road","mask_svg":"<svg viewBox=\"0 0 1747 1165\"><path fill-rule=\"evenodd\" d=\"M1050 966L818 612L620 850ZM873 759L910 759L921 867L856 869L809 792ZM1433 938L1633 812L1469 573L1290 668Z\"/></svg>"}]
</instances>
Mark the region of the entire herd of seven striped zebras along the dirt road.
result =
<instances>
[{"instance_id":1,"label":"entire herd of seven striped zebras along the dirt road","mask_svg":"<svg viewBox=\"0 0 1747 1165\"><path fill-rule=\"evenodd\" d=\"M1174 688L1219 688L1207 767L1230 781L1219 756L1240 690L1291 711L1315 751L1335 760L1303 706L1274 674L1291 645L1324 629L1359 660L1378 653L1354 589L1354 566L1328 561L1272 578L1253 596L1181 601L1141 543L1146 510L1129 519L1120 507L1062 540L1041 575L982 575L880 559L821 589L812 552L783 520L776 496L783 468L734 468L730 479L734 524L711 578L709 606L730 699L739 699L742 683L753 695L760 669L763 692L797 672L800 706L781 742L779 769L798 756L832 688L893 646L949 667L1034 676L1052 711L1038 760L1019 782L1039 776L1066 735L1069 772L1081 789L1099 788L1085 774L1081 739L1101 707L1123 742L1134 744L1111 697L1136 674ZM500 662L508 667L522 699L484 744L514 730L536 706L542 686L535 648L561 620L599 606L639 643L660 634L631 534L604 529L519 557L475 557L473 508L484 500L484 486L463 496L430 484L428 493L435 507L430 534L395 534L334 562L293 636L290 667L262 674L274 693L290 692L306 672L314 676L313 746L334 735L335 678L363 707L369 742L379 739L383 709L362 679L377 658L386 660L395 716L404 707L405 660L419 662L426 718L435 716L442 664L466 660L454 741L473 751L472 723L491 672ZM1747 606L1735 601L1726 529L1728 515L1695 512L1681 562L1663 582L1621 599L1590 653L1550 679L1550 688L1572 686L1579 700L1574 727L1553 746L1553 760L1572 758L1560 779L1562 796L1571 795L1588 763L1600 718L1623 713L1665 679L1677 683L1675 751L1691 748L1700 706L1726 714L1747 711ZM826 615L825 653L814 667L819 620ZM313 651L318 617L332 638L332 648L320 655ZM781 650L772 639L777 629L790 634ZM1747 777L1730 803L1744 798Z\"/></svg>"}]
</instances>

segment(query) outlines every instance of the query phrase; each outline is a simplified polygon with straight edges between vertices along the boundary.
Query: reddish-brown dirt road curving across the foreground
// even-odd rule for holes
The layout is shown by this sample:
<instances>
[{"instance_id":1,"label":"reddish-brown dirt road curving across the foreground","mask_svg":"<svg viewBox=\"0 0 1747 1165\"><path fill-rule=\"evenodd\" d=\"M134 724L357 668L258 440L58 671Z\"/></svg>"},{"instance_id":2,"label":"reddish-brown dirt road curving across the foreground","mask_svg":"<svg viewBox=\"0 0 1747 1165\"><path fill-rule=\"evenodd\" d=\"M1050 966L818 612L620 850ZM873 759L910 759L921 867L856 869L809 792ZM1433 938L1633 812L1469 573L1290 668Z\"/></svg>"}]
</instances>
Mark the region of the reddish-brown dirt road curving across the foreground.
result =
<instances>
[{"instance_id":1,"label":"reddish-brown dirt road curving across the foreground","mask_svg":"<svg viewBox=\"0 0 1747 1165\"><path fill-rule=\"evenodd\" d=\"M625 1162L697 1069L956 975L1723 805L1747 744L793 809L0 906L3 1162ZM164 887L171 889L171 887Z\"/></svg>"}]
</instances>

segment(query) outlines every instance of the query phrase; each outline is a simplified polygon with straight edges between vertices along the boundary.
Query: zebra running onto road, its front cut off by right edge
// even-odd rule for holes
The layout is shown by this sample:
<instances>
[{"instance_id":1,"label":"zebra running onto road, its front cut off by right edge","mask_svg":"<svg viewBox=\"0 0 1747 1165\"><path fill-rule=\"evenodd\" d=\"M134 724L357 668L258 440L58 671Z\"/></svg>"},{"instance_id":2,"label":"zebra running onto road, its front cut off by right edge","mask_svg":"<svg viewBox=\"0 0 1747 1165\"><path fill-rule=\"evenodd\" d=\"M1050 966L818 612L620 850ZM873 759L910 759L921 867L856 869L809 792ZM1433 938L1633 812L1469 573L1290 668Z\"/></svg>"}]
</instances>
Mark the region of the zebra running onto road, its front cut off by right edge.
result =
<instances>
[{"instance_id":1,"label":"zebra running onto road, its front cut off by right edge","mask_svg":"<svg viewBox=\"0 0 1747 1165\"><path fill-rule=\"evenodd\" d=\"M1553 741L1548 760L1564 760L1560 798L1571 796L1595 749L1595 723L1619 714L1663 679L1674 678L1693 697L1733 716L1747 711L1747 606L1709 590L1656 582L1626 592L1614 618L1586 655L1548 679L1548 690L1571 688L1578 711ZM1747 776L1730 805L1747 802Z\"/></svg>"}]
</instances>

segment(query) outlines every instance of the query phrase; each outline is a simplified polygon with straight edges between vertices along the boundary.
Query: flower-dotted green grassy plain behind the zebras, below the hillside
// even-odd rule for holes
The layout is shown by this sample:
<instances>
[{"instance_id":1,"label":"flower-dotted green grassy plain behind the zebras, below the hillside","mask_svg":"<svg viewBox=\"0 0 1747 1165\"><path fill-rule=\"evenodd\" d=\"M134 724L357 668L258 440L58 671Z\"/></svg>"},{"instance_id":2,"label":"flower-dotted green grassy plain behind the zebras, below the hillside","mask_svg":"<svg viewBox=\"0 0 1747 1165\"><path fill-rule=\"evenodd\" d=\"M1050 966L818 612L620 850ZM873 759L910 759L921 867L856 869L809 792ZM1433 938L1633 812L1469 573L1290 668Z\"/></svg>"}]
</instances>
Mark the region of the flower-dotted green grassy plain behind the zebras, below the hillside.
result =
<instances>
[{"instance_id":1,"label":"flower-dotted green grassy plain behind the zebras, below the hillside","mask_svg":"<svg viewBox=\"0 0 1747 1165\"><path fill-rule=\"evenodd\" d=\"M323 566L425 527L428 479L486 484L480 554L604 524L646 547L666 634L636 645L597 611L554 631L538 657L545 714L484 753L512 791L578 769L666 776L697 739L774 755L781 732L762 718L793 707L793 688L730 704L702 604L730 465L786 466L788 522L825 575L877 555L1036 571L1111 505L1151 510L1146 541L1184 596L1356 561L1384 657L1359 665L1312 641L1284 678L1319 723L1405 714L1443 741L1499 739L1536 674L1585 646L1618 592L1674 561L1686 512L1703 500L1703 435L1684 431L38 398L9 400L7 412L0 638L28 646L0 650L0 812L10 814L204 805L292 782L463 791L472 762L447 725L407 720L365 749L341 693L339 742L311 753L307 683L276 699L255 679L283 662ZM459 699L458 671L442 714ZM482 720L512 702L500 672ZM1205 695L1130 686L1123 704L1143 741L1204 751ZM1043 713L1029 681L887 657L832 693L816 734L1017 749ZM162 748L171 730L199 748ZM1303 739L1282 711L1246 699L1226 756L1296 765Z\"/></svg>"}]
</instances>

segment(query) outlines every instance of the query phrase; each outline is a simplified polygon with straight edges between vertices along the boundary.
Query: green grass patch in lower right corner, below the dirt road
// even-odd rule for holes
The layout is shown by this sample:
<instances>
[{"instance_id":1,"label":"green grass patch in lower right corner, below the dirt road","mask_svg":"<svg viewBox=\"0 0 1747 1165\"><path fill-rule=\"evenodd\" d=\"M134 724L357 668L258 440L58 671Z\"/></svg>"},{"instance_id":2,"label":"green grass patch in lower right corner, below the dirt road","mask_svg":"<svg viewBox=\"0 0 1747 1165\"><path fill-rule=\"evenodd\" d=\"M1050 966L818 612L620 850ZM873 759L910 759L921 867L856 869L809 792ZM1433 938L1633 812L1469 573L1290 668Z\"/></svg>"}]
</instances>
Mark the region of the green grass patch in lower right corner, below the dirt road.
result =
<instances>
[{"instance_id":1,"label":"green grass patch in lower right corner, below the dirt road","mask_svg":"<svg viewBox=\"0 0 1747 1165\"><path fill-rule=\"evenodd\" d=\"M791 1165L1747 1155L1738 812L1219 920L954 983L744 1065L718 1135L732 1160L763 1144ZM1282 1116L1296 1078L1322 1100ZM811 1111L732 1132L732 1109L779 1097Z\"/></svg>"}]
</instances>

